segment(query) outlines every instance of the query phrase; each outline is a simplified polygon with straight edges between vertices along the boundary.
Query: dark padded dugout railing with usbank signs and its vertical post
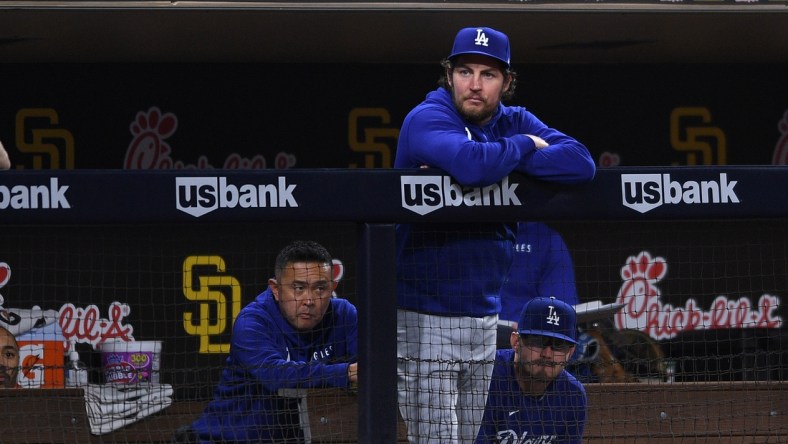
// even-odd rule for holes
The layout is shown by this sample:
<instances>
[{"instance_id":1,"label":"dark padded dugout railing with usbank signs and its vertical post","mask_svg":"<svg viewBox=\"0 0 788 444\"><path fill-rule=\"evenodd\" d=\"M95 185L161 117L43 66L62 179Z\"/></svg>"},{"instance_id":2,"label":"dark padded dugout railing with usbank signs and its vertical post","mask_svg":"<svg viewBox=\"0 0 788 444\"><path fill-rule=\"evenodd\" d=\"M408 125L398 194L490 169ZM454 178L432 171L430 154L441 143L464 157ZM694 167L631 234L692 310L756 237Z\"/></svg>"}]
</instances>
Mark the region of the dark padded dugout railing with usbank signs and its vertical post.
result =
<instances>
[{"instance_id":1,"label":"dark padded dugout railing with usbank signs and its vertical post","mask_svg":"<svg viewBox=\"0 0 788 444\"><path fill-rule=\"evenodd\" d=\"M358 440L393 443L398 429L396 223L542 220L583 227L606 222L623 226L708 222L713 226L729 221L740 224L731 227L735 231L755 220L766 221L766 228L758 230L763 235L782 235L779 227L788 219L785 190L788 168L766 166L602 169L593 182L579 186L512 175L478 189L463 189L441 171L430 169L12 170L0 174L0 227L6 239L0 254L20 262L33 261L10 249L27 245L14 244L15 232L26 233L27 239L38 227L85 227L100 233L101 227L113 226L161 225L177 230L203 225L232 230L265 223L349 224L355 227L352 236L357 241L353 274L360 319ZM724 236L719 239L725 241ZM788 251L786 242L778 240L783 251ZM769 273L777 284L770 288L776 285L788 293L788 288L780 287L785 282L785 262L773 261L772 267ZM776 293L773 288L770 291ZM22 283L11 281L0 293L6 301L14 294L17 304L39 304L24 300ZM68 301L56 301L61 302ZM148 308L156 310L155 302ZM784 306L772 308L769 319L783 319ZM782 331L783 325L772 323L771 327ZM781 359L770 364L777 368L767 369L766 379L783 377L786 363Z\"/></svg>"}]
</instances>

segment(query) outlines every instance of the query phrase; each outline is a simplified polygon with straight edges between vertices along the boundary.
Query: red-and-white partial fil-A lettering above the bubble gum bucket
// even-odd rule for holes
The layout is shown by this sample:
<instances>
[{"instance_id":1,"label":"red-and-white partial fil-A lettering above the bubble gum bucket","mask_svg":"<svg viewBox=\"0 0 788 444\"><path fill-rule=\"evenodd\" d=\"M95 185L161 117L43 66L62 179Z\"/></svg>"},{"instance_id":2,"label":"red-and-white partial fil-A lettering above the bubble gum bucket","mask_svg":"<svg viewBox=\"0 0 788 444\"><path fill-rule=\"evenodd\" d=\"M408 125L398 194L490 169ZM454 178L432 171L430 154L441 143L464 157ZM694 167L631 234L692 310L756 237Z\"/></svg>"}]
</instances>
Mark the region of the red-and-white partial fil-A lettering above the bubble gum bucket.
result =
<instances>
[{"instance_id":1,"label":"red-and-white partial fil-A lettering above the bubble gum bucket","mask_svg":"<svg viewBox=\"0 0 788 444\"><path fill-rule=\"evenodd\" d=\"M134 327L123 323L123 318L131 313L127 304L113 302L109 306L109 317L102 318L99 308L88 305L85 308L68 303L60 307L58 323L63 332L65 343L82 342L93 348L107 341L134 340Z\"/></svg>"}]
</instances>

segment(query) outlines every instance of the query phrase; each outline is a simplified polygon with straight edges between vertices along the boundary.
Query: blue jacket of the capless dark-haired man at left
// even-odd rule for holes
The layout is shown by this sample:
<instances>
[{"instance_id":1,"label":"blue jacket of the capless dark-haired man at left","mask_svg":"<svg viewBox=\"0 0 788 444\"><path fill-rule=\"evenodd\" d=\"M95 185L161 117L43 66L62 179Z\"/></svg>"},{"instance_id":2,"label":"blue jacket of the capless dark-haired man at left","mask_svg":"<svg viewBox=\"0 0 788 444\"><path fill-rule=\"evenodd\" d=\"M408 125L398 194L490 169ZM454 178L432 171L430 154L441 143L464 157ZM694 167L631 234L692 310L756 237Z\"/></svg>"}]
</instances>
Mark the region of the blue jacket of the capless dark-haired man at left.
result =
<instances>
[{"instance_id":1,"label":"blue jacket of the capless dark-haired man at left","mask_svg":"<svg viewBox=\"0 0 788 444\"><path fill-rule=\"evenodd\" d=\"M321 323L299 333L267 289L235 320L214 399L192 430L200 442L301 442L298 399L278 391L347 387L357 337L356 308L347 300L331 299Z\"/></svg>"}]
</instances>

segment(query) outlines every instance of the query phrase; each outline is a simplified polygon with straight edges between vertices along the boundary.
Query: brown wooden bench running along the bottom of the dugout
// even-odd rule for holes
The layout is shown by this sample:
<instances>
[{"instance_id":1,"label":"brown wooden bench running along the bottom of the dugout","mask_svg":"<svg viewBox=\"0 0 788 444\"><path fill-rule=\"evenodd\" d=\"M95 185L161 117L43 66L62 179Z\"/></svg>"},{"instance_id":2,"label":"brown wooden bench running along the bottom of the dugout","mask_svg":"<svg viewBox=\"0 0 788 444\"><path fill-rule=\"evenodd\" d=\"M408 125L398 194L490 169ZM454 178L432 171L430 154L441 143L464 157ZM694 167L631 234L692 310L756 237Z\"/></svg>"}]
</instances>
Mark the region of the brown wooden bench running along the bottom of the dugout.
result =
<instances>
[{"instance_id":1,"label":"brown wooden bench running along the bottom of the dugout","mask_svg":"<svg viewBox=\"0 0 788 444\"><path fill-rule=\"evenodd\" d=\"M586 384L588 443L773 443L788 436L788 382ZM313 444L356 443L358 399L309 390ZM178 401L114 432L90 434L81 389L0 390L3 443L168 443L207 401ZM399 422L399 442L406 442Z\"/></svg>"}]
</instances>

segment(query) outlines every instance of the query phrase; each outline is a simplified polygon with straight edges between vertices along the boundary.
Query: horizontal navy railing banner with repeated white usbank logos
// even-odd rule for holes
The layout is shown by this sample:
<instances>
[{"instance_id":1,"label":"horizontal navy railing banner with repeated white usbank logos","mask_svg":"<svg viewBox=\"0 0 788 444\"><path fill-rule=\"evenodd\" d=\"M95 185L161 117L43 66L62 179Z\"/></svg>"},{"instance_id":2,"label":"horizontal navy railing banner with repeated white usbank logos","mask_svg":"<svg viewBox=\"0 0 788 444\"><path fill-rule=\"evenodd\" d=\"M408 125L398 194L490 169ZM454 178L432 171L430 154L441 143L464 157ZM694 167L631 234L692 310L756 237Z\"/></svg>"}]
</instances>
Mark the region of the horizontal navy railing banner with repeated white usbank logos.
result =
<instances>
[{"instance_id":1,"label":"horizontal navy railing banner with repeated white usbank logos","mask_svg":"<svg viewBox=\"0 0 788 444\"><path fill-rule=\"evenodd\" d=\"M788 215L786 167L604 169L586 185L511 175L462 187L434 169L8 171L3 224L482 222Z\"/></svg>"}]
</instances>

